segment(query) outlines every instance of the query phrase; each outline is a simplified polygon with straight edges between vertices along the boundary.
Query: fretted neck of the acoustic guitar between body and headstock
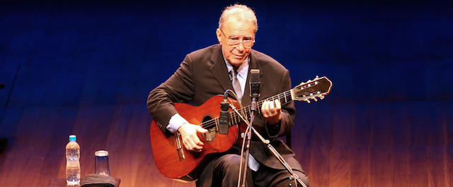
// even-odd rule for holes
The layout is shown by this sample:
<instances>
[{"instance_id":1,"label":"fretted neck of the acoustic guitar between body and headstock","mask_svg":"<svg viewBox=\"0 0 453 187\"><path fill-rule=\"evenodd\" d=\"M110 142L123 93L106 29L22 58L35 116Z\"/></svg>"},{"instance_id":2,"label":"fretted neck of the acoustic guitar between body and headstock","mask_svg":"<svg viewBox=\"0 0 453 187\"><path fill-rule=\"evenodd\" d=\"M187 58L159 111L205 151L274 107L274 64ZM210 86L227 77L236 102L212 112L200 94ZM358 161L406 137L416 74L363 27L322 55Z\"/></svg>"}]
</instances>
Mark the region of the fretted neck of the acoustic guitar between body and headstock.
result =
<instances>
[{"instance_id":1,"label":"fretted neck of the acoustic guitar between body and headstock","mask_svg":"<svg viewBox=\"0 0 453 187\"><path fill-rule=\"evenodd\" d=\"M257 103L257 109L256 109L256 114L261 114L261 106L263 105L263 102L265 101L275 101L275 100L279 100L281 104L286 104L288 102L291 102L293 99L292 99L292 94L291 94L291 90L287 90L286 92L282 92L278 95L274 95L273 97L268 97L266 99L263 99L261 101L259 101ZM247 107L243 107L241 109L239 109L239 113L241 114L245 114L246 116L244 116L246 119L250 118L251 117L251 106L248 105ZM237 124L237 123L241 123L243 120L241 119L241 117L239 116L239 114L236 114L236 112L234 111L231 111L229 113L229 117L230 117L230 122L229 122L229 126L233 126L234 124Z\"/></svg>"}]
</instances>

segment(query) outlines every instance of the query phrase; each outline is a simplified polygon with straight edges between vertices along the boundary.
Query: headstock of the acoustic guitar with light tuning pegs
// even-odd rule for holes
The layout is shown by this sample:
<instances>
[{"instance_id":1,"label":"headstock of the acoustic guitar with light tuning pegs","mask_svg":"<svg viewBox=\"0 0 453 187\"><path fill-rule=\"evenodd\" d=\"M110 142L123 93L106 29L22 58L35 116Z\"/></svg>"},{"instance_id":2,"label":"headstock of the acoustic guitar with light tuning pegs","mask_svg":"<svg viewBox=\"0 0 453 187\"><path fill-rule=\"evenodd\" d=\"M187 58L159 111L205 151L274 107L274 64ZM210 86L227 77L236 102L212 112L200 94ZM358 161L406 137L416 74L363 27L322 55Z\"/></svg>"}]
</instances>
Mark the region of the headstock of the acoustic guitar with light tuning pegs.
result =
<instances>
[{"instance_id":1,"label":"headstock of the acoustic guitar with light tuning pegs","mask_svg":"<svg viewBox=\"0 0 453 187\"><path fill-rule=\"evenodd\" d=\"M328 80L326 77L319 78L316 76L314 80L306 81L306 83L301 83L294 87L292 92L292 98L294 100L306 101L310 103L310 99L318 101L316 97L324 99L324 95L328 95L331 92L332 81Z\"/></svg>"}]
</instances>

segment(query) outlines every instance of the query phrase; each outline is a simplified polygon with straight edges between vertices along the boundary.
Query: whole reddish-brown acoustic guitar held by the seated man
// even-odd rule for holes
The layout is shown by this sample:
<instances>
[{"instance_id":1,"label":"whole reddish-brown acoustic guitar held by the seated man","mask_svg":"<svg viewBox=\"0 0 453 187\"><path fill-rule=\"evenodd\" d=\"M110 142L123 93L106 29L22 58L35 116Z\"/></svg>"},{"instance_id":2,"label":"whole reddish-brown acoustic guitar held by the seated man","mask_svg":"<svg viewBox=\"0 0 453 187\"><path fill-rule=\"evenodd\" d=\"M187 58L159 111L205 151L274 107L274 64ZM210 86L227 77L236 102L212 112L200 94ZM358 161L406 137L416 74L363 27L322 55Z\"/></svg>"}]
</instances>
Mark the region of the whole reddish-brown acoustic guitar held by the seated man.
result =
<instances>
[{"instance_id":1,"label":"whole reddish-brown acoustic guitar held by the seated man","mask_svg":"<svg viewBox=\"0 0 453 187\"><path fill-rule=\"evenodd\" d=\"M316 76L314 80L301 83L291 90L261 100L257 104L257 112L260 114L261 104L264 100L274 101L278 99L281 104L294 100L310 102L310 99L314 99L316 101L316 97L323 99L324 95L331 91L331 88L331 80ZM198 135L205 144L202 152L185 150L180 133L163 133L157 124L158 122L153 119L150 131L151 148L154 162L161 174L178 181L193 181L197 179L197 176L212 157L217 157L233 145L240 144L241 141L239 141L238 136L245 131L246 126L242 123L239 115L231 109L229 109L228 133L219 133L219 104L221 102L223 102L223 96L217 95L208 99L199 107L184 103L174 104L180 116L183 116L189 123L199 124L202 128L208 130L207 133ZM229 98L228 102L239 109L239 104L235 99ZM246 114L246 119L251 115L250 106L243 107L239 111L241 114Z\"/></svg>"}]
</instances>

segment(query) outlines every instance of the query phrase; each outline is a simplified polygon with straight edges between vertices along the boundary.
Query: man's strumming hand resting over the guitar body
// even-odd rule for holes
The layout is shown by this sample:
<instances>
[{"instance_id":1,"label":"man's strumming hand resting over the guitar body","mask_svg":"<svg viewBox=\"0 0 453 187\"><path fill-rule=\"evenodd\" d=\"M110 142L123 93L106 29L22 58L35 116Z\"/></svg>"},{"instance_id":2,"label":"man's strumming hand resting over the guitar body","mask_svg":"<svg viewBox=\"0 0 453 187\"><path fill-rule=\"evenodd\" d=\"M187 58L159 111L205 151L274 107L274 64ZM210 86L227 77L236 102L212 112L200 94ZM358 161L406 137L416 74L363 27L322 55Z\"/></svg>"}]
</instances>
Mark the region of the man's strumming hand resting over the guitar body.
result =
<instances>
[{"instance_id":1,"label":"man's strumming hand resting over the guitar body","mask_svg":"<svg viewBox=\"0 0 453 187\"><path fill-rule=\"evenodd\" d=\"M178 128L178 132L181 134L181 138L183 138L183 145L186 150L201 152L203 145L205 144L200 141L197 133L207 133L205 128L190 123L184 123L183 126Z\"/></svg>"}]
</instances>

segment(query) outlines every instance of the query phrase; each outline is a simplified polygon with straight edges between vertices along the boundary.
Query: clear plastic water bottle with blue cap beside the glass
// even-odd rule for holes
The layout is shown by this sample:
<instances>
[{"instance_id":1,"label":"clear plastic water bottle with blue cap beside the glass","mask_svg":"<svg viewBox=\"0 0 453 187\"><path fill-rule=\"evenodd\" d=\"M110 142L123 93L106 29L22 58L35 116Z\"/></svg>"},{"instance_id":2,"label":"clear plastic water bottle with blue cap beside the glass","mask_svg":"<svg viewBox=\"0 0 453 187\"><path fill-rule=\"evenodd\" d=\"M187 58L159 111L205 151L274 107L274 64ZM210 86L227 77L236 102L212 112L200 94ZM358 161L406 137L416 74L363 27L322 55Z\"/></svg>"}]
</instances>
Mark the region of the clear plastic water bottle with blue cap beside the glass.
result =
<instances>
[{"instance_id":1,"label":"clear plastic water bottle with blue cap beside the glass","mask_svg":"<svg viewBox=\"0 0 453 187\"><path fill-rule=\"evenodd\" d=\"M80 146L76 135L69 135L66 145L66 181L68 186L80 185Z\"/></svg>"}]
</instances>

